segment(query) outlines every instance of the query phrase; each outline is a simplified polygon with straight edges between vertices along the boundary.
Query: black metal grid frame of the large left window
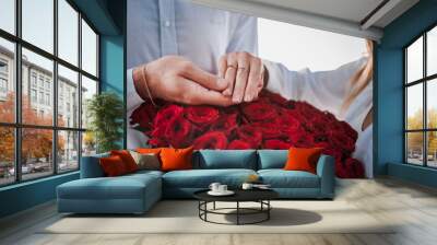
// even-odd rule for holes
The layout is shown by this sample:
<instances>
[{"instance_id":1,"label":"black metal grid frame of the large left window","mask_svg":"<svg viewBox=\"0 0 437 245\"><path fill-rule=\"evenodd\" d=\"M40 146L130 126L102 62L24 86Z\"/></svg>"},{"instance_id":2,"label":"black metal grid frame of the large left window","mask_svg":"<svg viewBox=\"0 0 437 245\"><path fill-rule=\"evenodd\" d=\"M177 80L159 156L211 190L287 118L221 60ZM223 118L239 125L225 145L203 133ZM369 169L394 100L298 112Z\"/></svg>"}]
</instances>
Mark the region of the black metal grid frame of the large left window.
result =
<instances>
[{"instance_id":1,"label":"black metal grid frame of the large left window","mask_svg":"<svg viewBox=\"0 0 437 245\"><path fill-rule=\"evenodd\" d=\"M14 109L14 122L2 122L0 121L0 127L4 128L12 128L14 130L14 182L11 183L5 183L5 184L0 184L0 188L4 186L11 186L11 185L17 185L21 183L25 182L32 182L40 178L47 178L54 175L63 175L68 174L71 172L76 172L81 167L81 156L82 156L82 137L83 132L86 131L86 128L82 127L82 118L79 117L79 124L76 127L63 127L63 126L58 126L58 65L63 66L64 68L68 68L74 72L78 72L78 91L80 92L82 90L82 75L93 80L97 84L97 91L96 93L101 93L101 79L99 79L99 57L101 57L101 47L99 47L99 40L101 40L101 33L96 30L96 27L91 23L91 21L83 14L79 8L71 1L71 0L64 0L74 11L78 12L78 65L70 63L69 61L60 58L58 55L58 1L59 0L52 0L54 2L54 51L50 54L49 51L44 50L43 48L37 47L36 45L33 45L32 43L25 40L22 38L22 0L15 0L14 1L14 11L15 11L15 26L14 26L14 34L11 34L4 30L0 28L0 38L3 38L5 40L12 42L14 44L14 69L13 69L13 75L12 75L12 81L15 86L15 109ZM92 28L92 31L96 34L96 75L93 75L88 73L87 71L82 69L82 20ZM23 70L23 62L22 62L22 49L25 48L29 51L33 51L39 56L43 56L44 58L47 58L52 61L54 68L52 68L52 91L49 95L50 100L50 106L52 106L52 122L50 126L43 126L43 125L29 125L29 124L23 124L22 121L22 70ZM29 74L31 75L31 74ZM44 80L45 82L46 80ZM36 90L37 93L39 91L39 77L36 77ZM28 81L29 88L33 88L33 81ZM45 83L43 83L45 85ZM45 86L43 86L43 91L45 91ZM46 93L44 93L46 94ZM31 98L29 98L31 100ZM39 100L37 97L37 100ZM46 104L46 103L44 103ZM78 115L81 115L82 113L82 96L81 93L78 93ZM54 156L51 159L51 165L52 170L51 173L47 173L47 175L42 176L42 177L35 177L35 178L28 178L28 179L23 179L23 174L22 174L22 130L23 129L49 129L51 130L52 135L52 148L51 148L51 155ZM78 133L78 167L74 170L68 170L68 171L59 171L59 160L58 160L58 133L61 131L71 131L71 132L76 132Z\"/></svg>"}]
</instances>

